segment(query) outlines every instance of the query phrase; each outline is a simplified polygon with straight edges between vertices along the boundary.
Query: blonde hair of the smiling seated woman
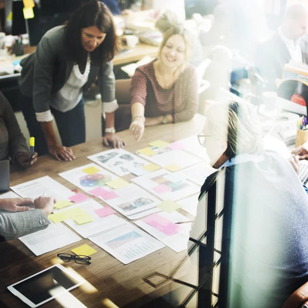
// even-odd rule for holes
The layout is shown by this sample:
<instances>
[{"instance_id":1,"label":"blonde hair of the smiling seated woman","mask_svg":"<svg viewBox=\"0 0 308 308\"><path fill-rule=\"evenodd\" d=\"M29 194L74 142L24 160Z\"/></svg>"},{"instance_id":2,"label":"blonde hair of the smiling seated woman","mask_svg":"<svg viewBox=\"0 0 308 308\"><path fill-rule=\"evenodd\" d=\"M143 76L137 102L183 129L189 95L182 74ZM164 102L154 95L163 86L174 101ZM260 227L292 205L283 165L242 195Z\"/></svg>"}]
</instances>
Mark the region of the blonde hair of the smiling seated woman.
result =
<instances>
[{"instance_id":1,"label":"blonde hair of the smiling seated woman","mask_svg":"<svg viewBox=\"0 0 308 308\"><path fill-rule=\"evenodd\" d=\"M187 65L189 64L191 55L192 55L192 48L193 48L193 41L192 41L192 35L191 33L183 28L183 27L172 27L163 36L163 41L160 45L159 51L158 51L158 56L161 57L162 49L166 45L167 41L169 38L173 35L179 34L183 37L184 42L185 42L185 60L184 63L180 67L180 71L183 71Z\"/></svg>"}]
</instances>

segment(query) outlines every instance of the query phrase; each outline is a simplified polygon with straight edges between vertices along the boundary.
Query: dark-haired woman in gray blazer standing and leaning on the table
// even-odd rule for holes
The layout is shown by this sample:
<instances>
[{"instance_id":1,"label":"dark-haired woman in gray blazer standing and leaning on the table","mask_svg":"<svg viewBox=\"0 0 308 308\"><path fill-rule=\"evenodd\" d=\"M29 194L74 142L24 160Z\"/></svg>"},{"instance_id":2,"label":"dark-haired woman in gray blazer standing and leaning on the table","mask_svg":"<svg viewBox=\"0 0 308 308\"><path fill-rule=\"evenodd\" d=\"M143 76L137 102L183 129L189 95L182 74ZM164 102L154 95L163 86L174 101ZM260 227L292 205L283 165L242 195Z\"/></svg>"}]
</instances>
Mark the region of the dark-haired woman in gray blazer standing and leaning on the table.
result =
<instances>
[{"instance_id":1,"label":"dark-haired woman in gray blazer standing and leaning on the table","mask_svg":"<svg viewBox=\"0 0 308 308\"><path fill-rule=\"evenodd\" d=\"M57 160L74 159L69 147L85 142L83 90L97 77L106 112L104 144L125 145L114 135L116 50L112 14L95 0L80 7L67 25L46 32L35 52L21 62L21 105L38 155L49 152ZM52 115L62 145L56 141Z\"/></svg>"}]
</instances>

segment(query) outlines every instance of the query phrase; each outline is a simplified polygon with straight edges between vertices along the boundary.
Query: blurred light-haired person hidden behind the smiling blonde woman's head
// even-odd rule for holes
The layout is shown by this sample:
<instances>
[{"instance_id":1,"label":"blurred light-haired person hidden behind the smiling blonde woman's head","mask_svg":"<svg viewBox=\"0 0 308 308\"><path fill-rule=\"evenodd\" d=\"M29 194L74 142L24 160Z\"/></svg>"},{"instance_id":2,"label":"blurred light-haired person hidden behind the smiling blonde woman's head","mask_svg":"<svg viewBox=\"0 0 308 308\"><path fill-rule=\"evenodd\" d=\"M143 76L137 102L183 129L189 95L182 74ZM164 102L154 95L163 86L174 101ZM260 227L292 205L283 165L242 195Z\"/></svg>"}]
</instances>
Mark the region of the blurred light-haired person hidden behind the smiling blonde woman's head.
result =
<instances>
[{"instance_id":1,"label":"blurred light-haired person hidden behind the smiling blonde woman's head","mask_svg":"<svg viewBox=\"0 0 308 308\"><path fill-rule=\"evenodd\" d=\"M155 27L164 35L172 27L184 27L184 21L170 10L164 11L156 21ZM198 66L204 60L203 49L199 38L193 33L194 47L190 58L190 63Z\"/></svg>"}]
</instances>

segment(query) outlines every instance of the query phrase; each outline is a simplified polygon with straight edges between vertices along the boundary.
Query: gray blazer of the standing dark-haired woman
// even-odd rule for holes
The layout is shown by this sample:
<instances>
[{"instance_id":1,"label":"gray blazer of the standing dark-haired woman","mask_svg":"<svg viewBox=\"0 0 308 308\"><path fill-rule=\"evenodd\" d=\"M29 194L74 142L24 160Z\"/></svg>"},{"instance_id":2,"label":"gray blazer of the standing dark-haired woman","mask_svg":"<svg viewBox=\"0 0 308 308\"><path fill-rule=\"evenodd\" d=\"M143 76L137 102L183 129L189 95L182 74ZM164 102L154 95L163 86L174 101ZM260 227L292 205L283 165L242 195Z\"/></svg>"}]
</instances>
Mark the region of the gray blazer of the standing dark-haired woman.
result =
<instances>
[{"instance_id":1,"label":"gray blazer of the standing dark-haired woman","mask_svg":"<svg viewBox=\"0 0 308 308\"><path fill-rule=\"evenodd\" d=\"M58 26L47 31L35 52L21 61L23 69L20 91L26 97L33 97L33 106L37 113L50 109L51 94L64 86L74 66L74 61L67 56L64 29L64 26ZM83 90L89 90L97 76L102 102L114 102L115 78L112 61L100 66L91 64L88 81ZM61 106L59 107L61 111ZM108 107L105 109L112 112L107 110Z\"/></svg>"}]
</instances>

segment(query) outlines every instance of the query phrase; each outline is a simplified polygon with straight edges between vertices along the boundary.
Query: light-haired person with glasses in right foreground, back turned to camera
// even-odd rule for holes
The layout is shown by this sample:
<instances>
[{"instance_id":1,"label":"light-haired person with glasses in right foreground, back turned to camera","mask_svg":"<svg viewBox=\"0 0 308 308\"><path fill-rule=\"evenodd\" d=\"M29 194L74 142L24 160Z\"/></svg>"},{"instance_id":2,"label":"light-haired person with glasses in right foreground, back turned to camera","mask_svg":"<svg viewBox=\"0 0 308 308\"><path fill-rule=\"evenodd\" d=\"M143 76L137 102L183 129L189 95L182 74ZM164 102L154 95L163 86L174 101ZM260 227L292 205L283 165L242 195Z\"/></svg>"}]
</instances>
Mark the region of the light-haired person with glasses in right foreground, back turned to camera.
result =
<instances>
[{"instance_id":1,"label":"light-haired person with glasses in right foreground, back turned to camera","mask_svg":"<svg viewBox=\"0 0 308 308\"><path fill-rule=\"evenodd\" d=\"M308 280L306 192L292 166L264 149L251 104L209 106L198 137L217 172L201 188L190 238L196 242L204 234L208 207L215 213L222 209L206 195L216 181L216 196L223 196L227 215L216 240L229 247L220 256L228 267L228 290L219 296L226 296L230 308L280 308Z\"/></svg>"}]
</instances>

